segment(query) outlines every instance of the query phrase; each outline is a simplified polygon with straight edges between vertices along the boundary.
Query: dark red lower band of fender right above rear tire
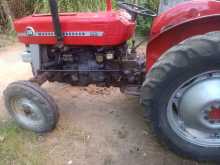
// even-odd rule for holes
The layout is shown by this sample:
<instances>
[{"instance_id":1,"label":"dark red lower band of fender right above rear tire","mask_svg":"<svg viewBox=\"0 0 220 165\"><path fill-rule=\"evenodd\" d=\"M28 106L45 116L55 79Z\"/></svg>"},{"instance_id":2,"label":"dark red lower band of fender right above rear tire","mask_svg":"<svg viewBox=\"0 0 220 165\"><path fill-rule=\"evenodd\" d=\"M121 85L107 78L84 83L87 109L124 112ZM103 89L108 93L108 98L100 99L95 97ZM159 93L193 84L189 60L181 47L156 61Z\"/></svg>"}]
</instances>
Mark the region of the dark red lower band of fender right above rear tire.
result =
<instances>
[{"instance_id":1,"label":"dark red lower band of fender right above rear tire","mask_svg":"<svg viewBox=\"0 0 220 165\"><path fill-rule=\"evenodd\" d=\"M175 25L151 38L147 47L147 70L168 49L195 35L220 30L220 13L203 16Z\"/></svg>"}]
</instances>

